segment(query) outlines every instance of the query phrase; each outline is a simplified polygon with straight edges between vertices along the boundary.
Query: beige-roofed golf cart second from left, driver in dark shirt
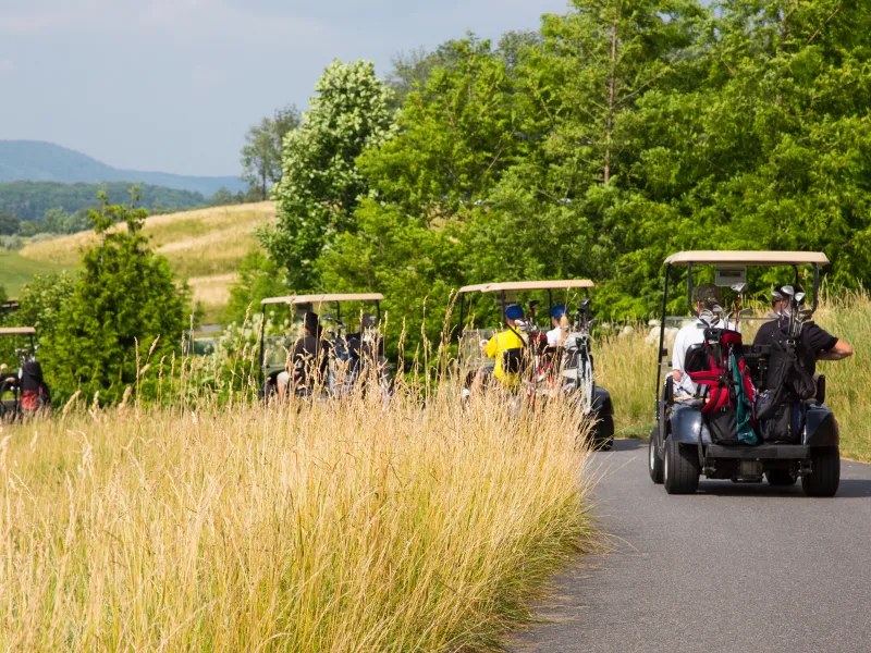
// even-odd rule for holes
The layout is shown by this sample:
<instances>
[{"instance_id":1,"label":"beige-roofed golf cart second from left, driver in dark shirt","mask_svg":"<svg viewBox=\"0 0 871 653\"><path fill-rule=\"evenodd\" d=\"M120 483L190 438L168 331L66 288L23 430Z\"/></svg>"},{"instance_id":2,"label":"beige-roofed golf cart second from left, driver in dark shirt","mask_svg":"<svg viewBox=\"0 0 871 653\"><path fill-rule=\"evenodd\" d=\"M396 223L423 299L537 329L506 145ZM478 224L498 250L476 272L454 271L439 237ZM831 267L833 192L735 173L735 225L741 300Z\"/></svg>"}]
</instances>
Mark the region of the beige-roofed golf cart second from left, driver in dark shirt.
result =
<instances>
[{"instance_id":1,"label":"beige-roofed golf cart second from left, driver in dark shirt","mask_svg":"<svg viewBox=\"0 0 871 653\"><path fill-rule=\"evenodd\" d=\"M303 334L302 319L307 311L315 311L320 316L328 352L328 378L324 380L321 394L327 396L341 396L348 394L357 387L365 364L369 358L375 359L378 366L379 383L384 393L390 392L391 372L383 353L383 340L379 333L381 322L381 301L384 296L380 293L344 293L326 295L290 295L285 297L269 297L263 299L262 320L260 323L260 396L268 402L279 391L278 375L287 368L289 357L297 337ZM359 330L348 333L347 324L342 321L342 305L356 303L358 305L375 305L375 316L358 313ZM285 335L266 335L267 307L273 305L287 305L292 313L292 321L296 333ZM332 306L334 313L323 313L323 309Z\"/></svg>"}]
</instances>

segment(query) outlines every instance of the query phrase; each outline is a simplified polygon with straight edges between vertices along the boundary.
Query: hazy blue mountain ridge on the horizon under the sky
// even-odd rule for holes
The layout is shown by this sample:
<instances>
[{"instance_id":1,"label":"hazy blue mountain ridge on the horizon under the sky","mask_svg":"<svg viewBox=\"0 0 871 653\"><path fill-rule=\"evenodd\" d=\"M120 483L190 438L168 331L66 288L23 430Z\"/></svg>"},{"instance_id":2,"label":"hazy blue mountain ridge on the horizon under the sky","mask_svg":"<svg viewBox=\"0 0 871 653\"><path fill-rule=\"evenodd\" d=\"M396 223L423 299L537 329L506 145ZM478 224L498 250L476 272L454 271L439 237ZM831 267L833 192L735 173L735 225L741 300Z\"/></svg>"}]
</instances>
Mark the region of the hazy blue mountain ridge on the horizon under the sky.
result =
<instances>
[{"instance_id":1,"label":"hazy blue mountain ridge on the horizon under the sky","mask_svg":"<svg viewBox=\"0 0 871 653\"><path fill-rule=\"evenodd\" d=\"M82 152L41 140L0 140L0 182L127 182L193 190L206 197L214 195L221 186L231 193L246 189L245 183L238 177L119 170Z\"/></svg>"}]
</instances>

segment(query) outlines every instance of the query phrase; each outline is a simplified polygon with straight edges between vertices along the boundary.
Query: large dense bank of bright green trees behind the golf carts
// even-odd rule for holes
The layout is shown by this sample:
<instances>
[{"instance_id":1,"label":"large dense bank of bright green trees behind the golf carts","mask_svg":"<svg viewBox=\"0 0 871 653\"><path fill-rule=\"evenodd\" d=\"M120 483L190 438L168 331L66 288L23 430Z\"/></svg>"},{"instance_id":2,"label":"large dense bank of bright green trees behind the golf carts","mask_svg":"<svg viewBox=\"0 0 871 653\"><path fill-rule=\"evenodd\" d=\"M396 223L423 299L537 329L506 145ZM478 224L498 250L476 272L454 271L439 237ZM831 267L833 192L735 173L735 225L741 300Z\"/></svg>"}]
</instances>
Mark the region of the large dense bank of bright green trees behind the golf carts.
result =
<instances>
[{"instance_id":1,"label":"large dense bank of bright green trees behind the golf carts","mask_svg":"<svg viewBox=\"0 0 871 653\"><path fill-rule=\"evenodd\" d=\"M823 250L867 285L869 60L871 4L837 0L576 0L495 50L414 51L395 136L343 177L368 198L277 196L271 251L294 287L383 292L393 335L426 315L431 340L450 289L487 281L590 278L600 313L647 317L680 249ZM289 183L333 170L299 160Z\"/></svg>"}]
</instances>

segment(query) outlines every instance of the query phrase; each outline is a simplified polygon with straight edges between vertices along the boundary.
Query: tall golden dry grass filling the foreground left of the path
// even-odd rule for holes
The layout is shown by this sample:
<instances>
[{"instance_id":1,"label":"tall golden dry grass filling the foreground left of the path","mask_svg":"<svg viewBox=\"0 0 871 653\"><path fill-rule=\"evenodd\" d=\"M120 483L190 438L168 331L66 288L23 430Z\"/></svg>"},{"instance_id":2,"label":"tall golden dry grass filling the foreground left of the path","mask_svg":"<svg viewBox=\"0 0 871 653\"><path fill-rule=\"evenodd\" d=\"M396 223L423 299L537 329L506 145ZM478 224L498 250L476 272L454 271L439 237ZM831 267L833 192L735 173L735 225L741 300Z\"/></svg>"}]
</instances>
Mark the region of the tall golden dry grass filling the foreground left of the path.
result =
<instances>
[{"instance_id":1,"label":"tall golden dry grass filling the foreground left of the path","mask_svg":"<svg viewBox=\"0 0 871 653\"><path fill-rule=\"evenodd\" d=\"M7 427L0 646L495 646L589 534L580 418L419 396Z\"/></svg>"}]
</instances>

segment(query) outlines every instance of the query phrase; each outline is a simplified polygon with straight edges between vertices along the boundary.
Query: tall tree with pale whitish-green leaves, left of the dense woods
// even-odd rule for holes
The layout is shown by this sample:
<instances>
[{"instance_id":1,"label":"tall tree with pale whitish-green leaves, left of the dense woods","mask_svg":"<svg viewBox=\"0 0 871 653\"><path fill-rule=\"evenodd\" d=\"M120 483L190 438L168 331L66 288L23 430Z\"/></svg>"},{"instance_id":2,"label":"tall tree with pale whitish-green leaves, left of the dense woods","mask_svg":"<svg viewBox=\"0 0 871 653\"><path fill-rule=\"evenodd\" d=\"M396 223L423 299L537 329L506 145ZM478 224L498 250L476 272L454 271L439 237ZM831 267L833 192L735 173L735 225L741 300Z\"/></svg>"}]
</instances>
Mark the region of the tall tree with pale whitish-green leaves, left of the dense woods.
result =
<instances>
[{"instance_id":1,"label":"tall tree with pale whitish-green leaves, left of the dense woods","mask_svg":"<svg viewBox=\"0 0 871 653\"><path fill-rule=\"evenodd\" d=\"M354 209L368 192L355 159L387 140L393 124L391 91L371 63L334 61L315 90L303 125L284 139L275 226L260 234L296 291L318 285L318 257L355 229Z\"/></svg>"}]
</instances>

